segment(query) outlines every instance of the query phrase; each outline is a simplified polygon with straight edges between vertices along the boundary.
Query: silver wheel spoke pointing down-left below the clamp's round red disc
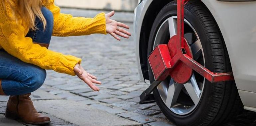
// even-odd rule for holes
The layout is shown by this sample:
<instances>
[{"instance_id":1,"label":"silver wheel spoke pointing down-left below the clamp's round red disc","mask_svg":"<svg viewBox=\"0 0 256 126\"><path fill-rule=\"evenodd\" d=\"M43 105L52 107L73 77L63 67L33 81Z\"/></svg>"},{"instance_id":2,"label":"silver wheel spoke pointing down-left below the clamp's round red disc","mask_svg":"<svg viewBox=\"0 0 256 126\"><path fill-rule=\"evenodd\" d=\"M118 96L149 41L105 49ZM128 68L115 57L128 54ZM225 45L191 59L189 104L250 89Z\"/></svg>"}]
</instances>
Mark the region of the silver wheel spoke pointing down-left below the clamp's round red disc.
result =
<instances>
[{"instance_id":1,"label":"silver wheel spoke pointing down-left below the clamp's round red disc","mask_svg":"<svg viewBox=\"0 0 256 126\"><path fill-rule=\"evenodd\" d=\"M182 84L177 84L173 81L173 79L171 79L170 85L168 88L167 98L166 98L167 107L170 108L176 103L182 88L183 88Z\"/></svg>"}]
</instances>

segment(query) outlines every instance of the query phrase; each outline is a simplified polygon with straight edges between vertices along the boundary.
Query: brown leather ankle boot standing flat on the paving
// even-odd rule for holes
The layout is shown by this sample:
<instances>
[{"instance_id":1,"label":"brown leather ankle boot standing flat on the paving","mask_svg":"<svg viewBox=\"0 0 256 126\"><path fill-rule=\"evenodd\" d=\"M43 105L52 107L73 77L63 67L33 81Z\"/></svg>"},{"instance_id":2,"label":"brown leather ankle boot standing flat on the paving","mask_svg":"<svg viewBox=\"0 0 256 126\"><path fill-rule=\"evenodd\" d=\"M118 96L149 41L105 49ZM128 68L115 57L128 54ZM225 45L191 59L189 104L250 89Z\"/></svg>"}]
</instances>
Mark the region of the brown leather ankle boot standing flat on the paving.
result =
<instances>
[{"instance_id":1,"label":"brown leather ankle boot standing flat on the paving","mask_svg":"<svg viewBox=\"0 0 256 126\"><path fill-rule=\"evenodd\" d=\"M31 94L10 96L7 102L5 117L22 119L25 123L39 125L50 123L50 118L40 114L30 99Z\"/></svg>"}]
</instances>

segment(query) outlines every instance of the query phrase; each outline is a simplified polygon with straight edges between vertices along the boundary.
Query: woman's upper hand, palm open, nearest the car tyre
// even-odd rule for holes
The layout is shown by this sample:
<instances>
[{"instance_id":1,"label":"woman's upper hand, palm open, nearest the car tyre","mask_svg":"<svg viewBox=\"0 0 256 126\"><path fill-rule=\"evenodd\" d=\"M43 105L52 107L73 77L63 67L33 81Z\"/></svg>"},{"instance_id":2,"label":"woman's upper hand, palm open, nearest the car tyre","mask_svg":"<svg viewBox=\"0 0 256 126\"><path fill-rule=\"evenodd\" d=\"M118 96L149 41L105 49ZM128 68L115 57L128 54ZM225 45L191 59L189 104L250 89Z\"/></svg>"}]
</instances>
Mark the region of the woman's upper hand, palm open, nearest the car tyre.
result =
<instances>
[{"instance_id":1,"label":"woman's upper hand, palm open, nearest the car tyre","mask_svg":"<svg viewBox=\"0 0 256 126\"><path fill-rule=\"evenodd\" d=\"M112 17L114 14L115 14L114 11L111 11L110 13L105 14L107 33L111 34L115 39L119 41L121 40L119 36L124 38L129 38L131 36L131 33L123 29L123 28L129 29L129 26L110 19L110 17Z\"/></svg>"}]
</instances>

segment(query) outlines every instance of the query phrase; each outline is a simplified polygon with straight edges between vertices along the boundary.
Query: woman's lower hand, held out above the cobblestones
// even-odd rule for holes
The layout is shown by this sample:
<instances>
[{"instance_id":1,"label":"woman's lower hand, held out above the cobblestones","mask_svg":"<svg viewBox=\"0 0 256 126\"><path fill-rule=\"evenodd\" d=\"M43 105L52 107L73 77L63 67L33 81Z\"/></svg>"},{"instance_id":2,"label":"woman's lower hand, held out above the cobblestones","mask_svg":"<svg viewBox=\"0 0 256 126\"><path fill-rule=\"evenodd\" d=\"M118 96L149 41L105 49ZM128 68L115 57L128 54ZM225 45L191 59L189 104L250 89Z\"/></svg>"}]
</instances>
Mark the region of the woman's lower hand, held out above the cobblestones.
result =
<instances>
[{"instance_id":1,"label":"woman's lower hand, held out above the cobblestones","mask_svg":"<svg viewBox=\"0 0 256 126\"><path fill-rule=\"evenodd\" d=\"M99 91L99 88L95 84L101 85L101 82L97 81L97 78L89 73L87 73L83 67L76 64L74 67L74 72L77 77L83 80L92 90Z\"/></svg>"}]
</instances>

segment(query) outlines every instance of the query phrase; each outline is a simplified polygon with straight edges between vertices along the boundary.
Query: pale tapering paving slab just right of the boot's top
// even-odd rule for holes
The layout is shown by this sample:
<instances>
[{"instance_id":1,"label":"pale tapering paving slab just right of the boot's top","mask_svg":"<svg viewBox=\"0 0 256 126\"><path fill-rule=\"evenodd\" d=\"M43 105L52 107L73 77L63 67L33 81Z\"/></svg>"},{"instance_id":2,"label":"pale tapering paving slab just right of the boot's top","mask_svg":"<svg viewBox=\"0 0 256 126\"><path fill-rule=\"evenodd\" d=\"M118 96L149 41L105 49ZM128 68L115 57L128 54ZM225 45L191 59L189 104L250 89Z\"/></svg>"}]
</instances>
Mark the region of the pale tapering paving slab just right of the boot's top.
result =
<instances>
[{"instance_id":1,"label":"pale tapering paving slab just right of the boot's top","mask_svg":"<svg viewBox=\"0 0 256 126\"><path fill-rule=\"evenodd\" d=\"M45 92L43 90L36 90L35 92L32 92L30 98L32 100L61 99L61 97L58 97L56 95L52 95L52 94L50 94L48 92Z\"/></svg>"}]
</instances>

